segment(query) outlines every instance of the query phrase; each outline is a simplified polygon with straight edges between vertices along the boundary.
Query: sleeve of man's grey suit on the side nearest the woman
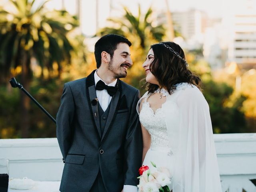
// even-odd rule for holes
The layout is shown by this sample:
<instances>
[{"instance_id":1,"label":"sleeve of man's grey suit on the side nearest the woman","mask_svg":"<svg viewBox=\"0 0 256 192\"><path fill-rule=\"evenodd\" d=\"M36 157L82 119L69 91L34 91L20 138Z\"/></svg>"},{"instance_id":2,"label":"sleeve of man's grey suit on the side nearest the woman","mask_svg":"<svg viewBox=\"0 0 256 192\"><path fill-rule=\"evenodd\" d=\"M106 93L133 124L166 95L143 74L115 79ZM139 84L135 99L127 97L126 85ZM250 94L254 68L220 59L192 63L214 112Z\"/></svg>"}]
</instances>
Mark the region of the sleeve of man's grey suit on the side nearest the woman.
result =
<instances>
[{"instance_id":1,"label":"sleeve of man's grey suit on the side nearest the woman","mask_svg":"<svg viewBox=\"0 0 256 192\"><path fill-rule=\"evenodd\" d=\"M132 107L130 110L130 121L126 133L124 143L125 150L125 177L124 185L136 186L139 182L137 177L138 169L142 160L142 133L138 113L136 112L137 102L140 98L139 90L134 96Z\"/></svg>"}]
</instances>

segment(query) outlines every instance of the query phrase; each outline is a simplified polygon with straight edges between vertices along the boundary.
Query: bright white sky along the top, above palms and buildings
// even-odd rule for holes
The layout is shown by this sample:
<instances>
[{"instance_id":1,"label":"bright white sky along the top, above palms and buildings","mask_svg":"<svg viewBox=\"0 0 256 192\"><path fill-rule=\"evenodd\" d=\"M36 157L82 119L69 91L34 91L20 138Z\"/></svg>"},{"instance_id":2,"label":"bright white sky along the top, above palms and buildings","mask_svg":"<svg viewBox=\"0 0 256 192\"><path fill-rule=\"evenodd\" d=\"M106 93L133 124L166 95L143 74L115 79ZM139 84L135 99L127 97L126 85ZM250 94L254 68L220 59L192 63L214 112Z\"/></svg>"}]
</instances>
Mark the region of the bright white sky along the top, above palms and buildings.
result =
<instances>
[{"instance_id":1,"label":"bright white sky along the top, above palms and buildings","mask_svg":"<svg viewBox=\"0 0 256 192\"><path fill-rule=\"evenodd\" d=\"M44 2L45 0L36 0L36 3ZM127 6L133 14L138 13L138 4L141 6L142 13L152 6L154 12L166 10L166 0L80 0L81 2L81 26L82 32L87 36L95 34L96 28L96 1L99 4L99 26L102 27L106 23L106 18L110 15L109 5L116 9L116 13L122 16L122 6ZM240 6L247 0L168 0L169 9L171 12L186 11L194 8L196 10L205 11L209 17L223 18L231 15L234 9L239 10ZM256 7L256 0L248 0ZM6 4L8 0L0 0L0 6ZM49 9L61 9L62 2L65 8L71 13L76 13L76 0L51 0L46 4ZM116 16L116 15L115 15Z\"/></svg>"}]
</instances>

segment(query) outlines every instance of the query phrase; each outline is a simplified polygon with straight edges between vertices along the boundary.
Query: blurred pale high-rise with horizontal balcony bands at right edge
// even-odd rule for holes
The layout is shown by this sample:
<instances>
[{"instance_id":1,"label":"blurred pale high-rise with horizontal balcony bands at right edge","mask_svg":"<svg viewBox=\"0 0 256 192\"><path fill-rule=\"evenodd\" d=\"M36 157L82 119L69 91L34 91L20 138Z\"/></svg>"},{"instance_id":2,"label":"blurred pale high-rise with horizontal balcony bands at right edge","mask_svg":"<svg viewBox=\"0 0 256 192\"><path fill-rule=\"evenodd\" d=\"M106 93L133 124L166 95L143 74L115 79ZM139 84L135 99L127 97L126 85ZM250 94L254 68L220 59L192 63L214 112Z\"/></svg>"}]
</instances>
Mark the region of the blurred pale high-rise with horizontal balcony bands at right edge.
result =
<instances>
[{"instance_id":1,"label":"blurred pale high-rise with horizontal balcony bands at right edge","mask_svg":"<svg viewBox=\"0 0 256 192\"><path fill-rule=\"evenodd\" d=\"M240 1L230 20L228 60L242 68L256 66L256 1Z\"/></svg>"}]
</instances>

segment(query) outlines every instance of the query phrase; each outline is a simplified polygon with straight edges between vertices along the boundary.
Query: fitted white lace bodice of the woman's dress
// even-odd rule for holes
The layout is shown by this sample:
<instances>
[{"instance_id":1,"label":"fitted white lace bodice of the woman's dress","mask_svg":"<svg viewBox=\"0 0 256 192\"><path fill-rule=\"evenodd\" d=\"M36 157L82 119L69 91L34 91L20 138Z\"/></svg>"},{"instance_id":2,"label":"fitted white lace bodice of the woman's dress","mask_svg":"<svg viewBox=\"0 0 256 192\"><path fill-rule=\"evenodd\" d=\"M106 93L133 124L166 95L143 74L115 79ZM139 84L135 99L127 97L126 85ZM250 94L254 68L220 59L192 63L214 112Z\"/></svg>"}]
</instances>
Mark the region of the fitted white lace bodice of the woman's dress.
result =
<instances>
[{"instance_id":1,"label":"fitted white lace bodice of the woman's dress","mask_svg":"<svg viewBox=\"0 0 256 192\"><path fill-rule=\"evenodd\" d=\"M162 108L158 108L154 113L146 101L148 96L142 103L140 111L140 122L148 130L151 136L151 146L168 147L168 135L165 124L165 115Z\"/></svg>"}]
</instances>

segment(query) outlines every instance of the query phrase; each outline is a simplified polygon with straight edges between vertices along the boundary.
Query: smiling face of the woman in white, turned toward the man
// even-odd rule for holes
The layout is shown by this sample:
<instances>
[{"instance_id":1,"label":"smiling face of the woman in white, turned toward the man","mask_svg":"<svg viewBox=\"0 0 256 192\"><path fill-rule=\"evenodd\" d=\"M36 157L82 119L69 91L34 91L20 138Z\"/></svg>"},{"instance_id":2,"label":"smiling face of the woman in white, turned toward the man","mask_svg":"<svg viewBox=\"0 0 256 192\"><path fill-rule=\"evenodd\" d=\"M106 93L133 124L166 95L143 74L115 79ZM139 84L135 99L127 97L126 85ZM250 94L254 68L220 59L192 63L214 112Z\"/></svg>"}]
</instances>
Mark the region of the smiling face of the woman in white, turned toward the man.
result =
<instances>
[{"instance_id":1,"label":"smiling face of the woman in white, turned toward the man","mask_svg":"<svg viewBox=\"0 0 256 192\"><path fill-rule=\"evenodd\" d=\"M152 63L153 60L154 60L154 52L152 49L150 49L148 52L146 61L142 64L142 67L146 72L146 82L158 85L158 81L156 80L156 77L149 70L150 64Z\"/></svg>"}]
</instances>

